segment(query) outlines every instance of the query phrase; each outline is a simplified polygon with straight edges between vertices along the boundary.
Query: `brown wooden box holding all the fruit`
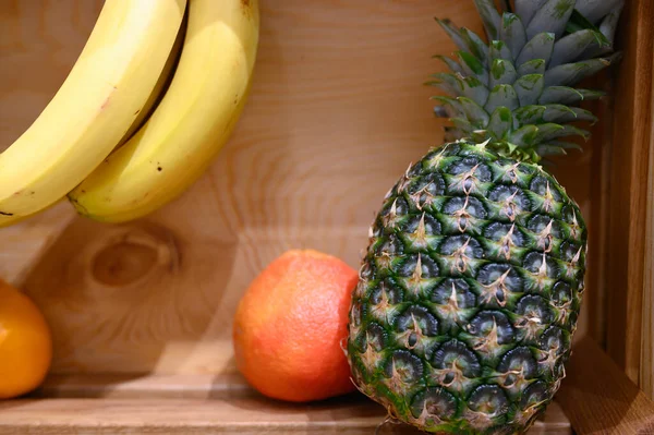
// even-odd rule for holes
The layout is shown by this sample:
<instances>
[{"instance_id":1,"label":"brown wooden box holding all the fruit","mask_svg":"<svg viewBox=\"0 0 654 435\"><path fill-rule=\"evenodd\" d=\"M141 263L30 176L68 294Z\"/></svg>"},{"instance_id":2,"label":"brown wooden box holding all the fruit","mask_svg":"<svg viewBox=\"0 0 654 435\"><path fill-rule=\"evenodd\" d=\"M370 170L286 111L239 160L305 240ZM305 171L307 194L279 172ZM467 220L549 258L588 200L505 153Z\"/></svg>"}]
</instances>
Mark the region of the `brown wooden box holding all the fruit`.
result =
<instances>
[{"instance_id":1,"label":"brown wooden box holding all the fruit","mask_svg":"<svg viewBox=\"0 0 654 435\"><path fill-rule=\"evenodd\" d=\"M101 0L0 1L0 149L38 116ZM254 392L231 319L253 277L291 247L358 267L367 226L408 164L443 141L426 77L455 46L433 17L481 31L471 0L263 0L252 95L229 144L180 200L100 225L62 203L0 230L0 276L44 311L51 374L0 402L0 434L373 434L382 407ZM589 285L568 376L530 434L654 434L651 0L628 0L621 63L584 153L555 176L580 203ZM386 424L379 434L414 433Z\"/></svg>"}]
</instances>

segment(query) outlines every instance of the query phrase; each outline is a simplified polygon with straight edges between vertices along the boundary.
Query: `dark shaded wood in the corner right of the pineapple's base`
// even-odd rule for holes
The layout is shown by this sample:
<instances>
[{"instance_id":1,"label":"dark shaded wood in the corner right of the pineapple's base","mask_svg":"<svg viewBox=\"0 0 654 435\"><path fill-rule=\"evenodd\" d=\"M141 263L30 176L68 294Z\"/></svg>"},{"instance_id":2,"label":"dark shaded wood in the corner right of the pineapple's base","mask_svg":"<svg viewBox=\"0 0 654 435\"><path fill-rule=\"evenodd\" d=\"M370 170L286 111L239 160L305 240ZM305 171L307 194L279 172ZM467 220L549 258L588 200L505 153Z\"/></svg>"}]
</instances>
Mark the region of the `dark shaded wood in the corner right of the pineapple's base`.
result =
<instances>
[{"instance_id":1,"label":"dark shaded wood in the corner right of the pineapple's base","mask_svg":"<svg viewBox=\"0 0 654 435\"><path fill-rule=\"evenodd\" d=\"M577 435L654 434L654 402L590 338L572 349L556 398Z\"/></svg>"}]
</instances>

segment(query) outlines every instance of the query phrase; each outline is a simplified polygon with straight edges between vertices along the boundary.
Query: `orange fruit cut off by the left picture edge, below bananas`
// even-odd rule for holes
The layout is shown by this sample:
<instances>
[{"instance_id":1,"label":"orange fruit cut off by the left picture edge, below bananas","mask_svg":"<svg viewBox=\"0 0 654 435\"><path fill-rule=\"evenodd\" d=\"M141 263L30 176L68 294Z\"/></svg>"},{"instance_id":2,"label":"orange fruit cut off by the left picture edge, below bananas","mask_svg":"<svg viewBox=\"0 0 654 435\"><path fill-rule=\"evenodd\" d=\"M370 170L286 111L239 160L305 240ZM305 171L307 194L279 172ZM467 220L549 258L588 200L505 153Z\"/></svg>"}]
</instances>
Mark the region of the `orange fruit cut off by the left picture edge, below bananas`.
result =
<instances>
[{"instance_id":1,"label":"orange fruit cut off by the left picture edge, below bananas","mask_svg":"<svg viewBox=\"0 0 654 435\"><path fill-rule=\"evenodd\" d=\"M0 279L0 399L38 387L51 360L52 339L41 312Z\"/></svg>"}]
</instances>

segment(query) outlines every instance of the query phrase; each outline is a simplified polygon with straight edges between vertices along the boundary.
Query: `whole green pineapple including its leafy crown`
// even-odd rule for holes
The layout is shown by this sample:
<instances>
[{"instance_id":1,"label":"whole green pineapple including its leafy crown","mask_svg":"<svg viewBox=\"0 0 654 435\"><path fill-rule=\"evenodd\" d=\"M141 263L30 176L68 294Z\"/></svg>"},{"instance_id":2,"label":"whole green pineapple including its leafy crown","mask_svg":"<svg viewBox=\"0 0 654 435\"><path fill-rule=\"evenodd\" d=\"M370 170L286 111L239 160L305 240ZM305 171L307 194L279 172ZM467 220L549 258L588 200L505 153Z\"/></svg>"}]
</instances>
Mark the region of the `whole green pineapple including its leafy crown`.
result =
<instances>
[{"instance_id":1,"label":"whole green pineapple including its leafy crown","mask_svg":"<svg viewBox=\"0 0 654 435\"><path fill-rule=\"evenodd\" d=\"M489 44L439 21L460 51L431 83L448 143L411 165L370 230L348 360L391 418L446 434L522 433L565 376L586 228L541 164L588 136L573 88L609 65L622 0L474 0Z\"/></svg>"}]
</instances>

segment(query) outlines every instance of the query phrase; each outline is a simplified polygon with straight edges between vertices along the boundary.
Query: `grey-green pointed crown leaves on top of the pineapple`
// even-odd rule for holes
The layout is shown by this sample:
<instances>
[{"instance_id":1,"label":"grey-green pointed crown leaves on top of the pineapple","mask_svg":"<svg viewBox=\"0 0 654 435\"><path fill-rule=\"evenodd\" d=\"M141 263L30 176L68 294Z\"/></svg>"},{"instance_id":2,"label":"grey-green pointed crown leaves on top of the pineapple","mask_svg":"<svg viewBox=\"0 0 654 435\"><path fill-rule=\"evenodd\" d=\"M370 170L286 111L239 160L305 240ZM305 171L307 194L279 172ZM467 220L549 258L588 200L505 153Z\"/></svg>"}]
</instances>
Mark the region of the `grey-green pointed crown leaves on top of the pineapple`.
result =
<instances>
[{"instance_id":1,"label":"grey-green pointed crown leaves on top of the pineapple","mask_svg":"<svg viewBox=\"0 0 654 435\"><path fill-rule=\"evenodd\" d=\"M436 19L459 48L456 59L435 56L450 70L426 84L445 90L435 96L436 116L449 118L446 140L488 141L506 157L540 161L580 148L566 136L590 133L568 123L595 122L582 100L598 90L574 88L581 80L610 65L623 0L474 0L489 44L449 20Z\"/></svg>"}]
</instances>

